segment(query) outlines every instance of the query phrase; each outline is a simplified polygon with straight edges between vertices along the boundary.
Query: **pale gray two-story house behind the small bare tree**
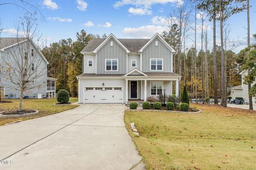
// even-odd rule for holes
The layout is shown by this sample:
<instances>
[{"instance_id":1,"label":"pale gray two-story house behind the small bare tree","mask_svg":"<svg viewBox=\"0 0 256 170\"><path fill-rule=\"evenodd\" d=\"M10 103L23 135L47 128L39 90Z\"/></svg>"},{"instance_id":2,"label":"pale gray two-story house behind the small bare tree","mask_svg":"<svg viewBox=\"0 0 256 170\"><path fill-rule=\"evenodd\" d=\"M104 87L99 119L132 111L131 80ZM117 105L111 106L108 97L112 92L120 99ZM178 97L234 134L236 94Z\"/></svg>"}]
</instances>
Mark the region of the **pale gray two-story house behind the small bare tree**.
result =
<instances>
[{"instance_id":1,"label":"pale gray two-story house behind the small bare tree","mask_svg":"<svg viewBox=\"0 0 256 170\"><path fill-rule=\"evenodd\" d=\"M25 62L25 60L28 62ZM57 79L47 77L47 64L49 63L33 40L1 38L0 61L0 88L4 98L20 97L17 83L21 81L22 67L27 72L26 81L29 82L23 97L55 97L55 81Z\"/></svg>"}]
</instances>

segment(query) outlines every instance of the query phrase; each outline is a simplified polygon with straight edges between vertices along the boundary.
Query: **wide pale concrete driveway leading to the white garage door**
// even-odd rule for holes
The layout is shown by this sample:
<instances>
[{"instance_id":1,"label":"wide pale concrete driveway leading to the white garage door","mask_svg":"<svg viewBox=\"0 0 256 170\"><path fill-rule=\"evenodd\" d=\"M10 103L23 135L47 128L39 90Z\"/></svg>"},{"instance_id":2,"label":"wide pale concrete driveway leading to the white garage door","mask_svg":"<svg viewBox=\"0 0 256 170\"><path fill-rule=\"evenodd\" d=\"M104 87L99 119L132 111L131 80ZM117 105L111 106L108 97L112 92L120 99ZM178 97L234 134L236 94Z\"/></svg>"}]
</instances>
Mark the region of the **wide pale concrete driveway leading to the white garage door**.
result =
<instances>
[{"instance_id":1,"label":"wide pale concrete driveway leading to the white garage door","mask_svg":"<svg viewBox=\"0 0 256 170\"><path fill-rule=\"evenodd\" d=\"M125 129L124 109L86 104L0 126L0 169L132 169L141 157Z\"/></svg>"}]
</instances>

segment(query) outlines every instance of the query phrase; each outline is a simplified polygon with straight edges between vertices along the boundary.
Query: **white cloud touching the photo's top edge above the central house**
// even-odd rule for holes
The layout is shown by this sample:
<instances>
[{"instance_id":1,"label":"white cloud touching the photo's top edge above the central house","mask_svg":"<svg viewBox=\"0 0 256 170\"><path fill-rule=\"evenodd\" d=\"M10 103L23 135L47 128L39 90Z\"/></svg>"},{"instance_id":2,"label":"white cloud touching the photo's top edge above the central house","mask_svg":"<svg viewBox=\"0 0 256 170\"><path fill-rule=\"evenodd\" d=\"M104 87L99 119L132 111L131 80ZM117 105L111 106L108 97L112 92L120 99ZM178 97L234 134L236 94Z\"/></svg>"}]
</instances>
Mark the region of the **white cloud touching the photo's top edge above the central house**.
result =
<instances>
[{"instance_id":1,"label":"white cloud touching the photo's top edge above the central house","mask_svg":"<svg viewBox=\"0 0 256 170\"><path fill-rule=\"evenodd\" d=\"M183 4L183 0L121 0L114 4L115 8L123 5L135 5L135 6L145 6L150 8L154 4L166 4L166 3L177 3Z\"/></svg>"}]
</instances>

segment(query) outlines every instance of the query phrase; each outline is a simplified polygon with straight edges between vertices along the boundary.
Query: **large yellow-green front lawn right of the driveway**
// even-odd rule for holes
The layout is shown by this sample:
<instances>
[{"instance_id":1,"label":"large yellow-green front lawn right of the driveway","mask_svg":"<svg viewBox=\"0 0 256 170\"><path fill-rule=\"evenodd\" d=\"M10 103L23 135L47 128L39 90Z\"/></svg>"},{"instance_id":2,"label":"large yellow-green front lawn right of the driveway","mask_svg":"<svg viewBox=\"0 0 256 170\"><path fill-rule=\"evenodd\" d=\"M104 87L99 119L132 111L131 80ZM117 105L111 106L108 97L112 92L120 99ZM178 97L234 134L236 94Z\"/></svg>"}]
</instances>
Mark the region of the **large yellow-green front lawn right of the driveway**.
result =
<instances>
[{"instance_id":1,"label":"large yellow-green front lawn right of the driveway","mask_svg":"<svg viewBox=\"0 0 256 170\"><path fill-rule=\"evenodd\" d=\"M146 169L256 169L256 112L192 106L202 113L125 111Z\"/></svg>"}]
</instances>

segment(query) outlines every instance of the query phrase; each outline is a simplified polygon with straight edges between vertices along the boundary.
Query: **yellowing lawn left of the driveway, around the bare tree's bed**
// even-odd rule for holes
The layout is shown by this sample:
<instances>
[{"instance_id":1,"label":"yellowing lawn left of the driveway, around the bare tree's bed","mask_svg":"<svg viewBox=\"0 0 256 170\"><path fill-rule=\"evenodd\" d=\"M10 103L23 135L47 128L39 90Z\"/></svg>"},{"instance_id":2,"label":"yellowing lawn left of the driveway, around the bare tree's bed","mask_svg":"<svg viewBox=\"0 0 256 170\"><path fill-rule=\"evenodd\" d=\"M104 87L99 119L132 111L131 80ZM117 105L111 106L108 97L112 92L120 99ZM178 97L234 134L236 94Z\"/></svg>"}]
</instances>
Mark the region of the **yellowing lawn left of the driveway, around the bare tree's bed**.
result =
<instances>
[{"instance_id":1,"label":"yellowing lawn left of the driveway, around the bare tree's bed","mask_svg":"<svg viewBox=\"0 0 256 170\"><path fill-rule=\"evenodd\" d=\"M4 111L7 109L18 109L19 100L18 99L11 99L13 103L1 103L0 104L0 111ZM70 103L75 103L77 98L70 98ZM6 118L0 119L0 125L4 125L6 123L12 123L16 121L25 121L32 118L42 117L46 115L51 115L55 113L59 113L62 111L66 111L71 108L77 107L77 105L65 105L65 106L55 106L54 103L57 103L56 98L47 98L47 99L23 99L23 107L27 109L36 109L39 111L38 114L34 116L27 116L27 117L19 117L19 118Z\"/></svg>"}]
</instances>

